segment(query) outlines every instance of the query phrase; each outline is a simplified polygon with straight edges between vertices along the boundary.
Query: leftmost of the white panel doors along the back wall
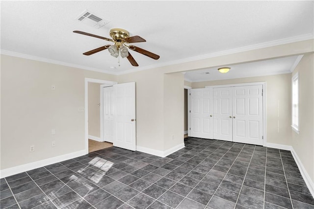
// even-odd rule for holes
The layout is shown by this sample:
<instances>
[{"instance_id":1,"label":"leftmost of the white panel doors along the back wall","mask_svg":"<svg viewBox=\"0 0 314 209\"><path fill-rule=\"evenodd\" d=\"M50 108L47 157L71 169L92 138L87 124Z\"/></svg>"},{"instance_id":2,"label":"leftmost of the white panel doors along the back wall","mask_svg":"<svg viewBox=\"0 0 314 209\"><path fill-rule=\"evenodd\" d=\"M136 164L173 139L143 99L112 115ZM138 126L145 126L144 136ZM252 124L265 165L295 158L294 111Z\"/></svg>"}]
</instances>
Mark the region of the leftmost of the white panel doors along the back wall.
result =
<instances>
[{"instance_id":1,"label":"leftmost of the white panel doors along the back wall","mask_svg":"<svg viewBox=\"0 0 314 209\"><path fill-rule=\"evenodd\" d=\"M190 90L190 135L212 139L212 89Z\"/></svg>"}]
</instances>

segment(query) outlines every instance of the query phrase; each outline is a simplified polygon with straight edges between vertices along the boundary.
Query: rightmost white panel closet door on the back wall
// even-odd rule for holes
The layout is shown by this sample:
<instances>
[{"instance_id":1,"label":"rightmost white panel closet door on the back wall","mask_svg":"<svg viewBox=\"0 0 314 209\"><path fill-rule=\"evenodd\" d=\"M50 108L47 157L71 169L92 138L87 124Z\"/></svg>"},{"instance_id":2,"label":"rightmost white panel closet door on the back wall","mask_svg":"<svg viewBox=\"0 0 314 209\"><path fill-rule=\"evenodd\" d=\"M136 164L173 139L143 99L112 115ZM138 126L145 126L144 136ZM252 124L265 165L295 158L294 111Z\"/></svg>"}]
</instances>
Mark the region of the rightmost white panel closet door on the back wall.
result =
<instances>
[{"instance_id":1,"label":"rightmost white panel closet door on the back wall","mask_svg":"<svg viewBox=\"0 0 314 209\"><path fill-rule=\"evenodd\" d=\"M263 145L262 85L233 90L233 141Z\"/></svg>"}]
</instances>

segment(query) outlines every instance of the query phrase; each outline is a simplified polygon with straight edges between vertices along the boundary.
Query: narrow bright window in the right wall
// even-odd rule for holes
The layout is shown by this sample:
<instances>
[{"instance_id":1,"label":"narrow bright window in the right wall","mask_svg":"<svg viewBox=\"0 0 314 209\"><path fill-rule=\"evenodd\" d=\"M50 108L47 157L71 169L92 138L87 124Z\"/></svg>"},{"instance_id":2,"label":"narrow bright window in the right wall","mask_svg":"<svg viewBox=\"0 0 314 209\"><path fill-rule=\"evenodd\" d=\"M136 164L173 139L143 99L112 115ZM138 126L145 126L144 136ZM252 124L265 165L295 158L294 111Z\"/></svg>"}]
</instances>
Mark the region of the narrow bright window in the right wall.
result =
<instances>
[{"instance_id":1,"label":"narrow bright window in the right wall","mask_svg":"<svg viewBox=\"0 0 314 209\"><path fill-rule=\"evenodd\" d=\"M292 77L292 129L299 133L299 73Z\"/></svg>"}]
</instances>

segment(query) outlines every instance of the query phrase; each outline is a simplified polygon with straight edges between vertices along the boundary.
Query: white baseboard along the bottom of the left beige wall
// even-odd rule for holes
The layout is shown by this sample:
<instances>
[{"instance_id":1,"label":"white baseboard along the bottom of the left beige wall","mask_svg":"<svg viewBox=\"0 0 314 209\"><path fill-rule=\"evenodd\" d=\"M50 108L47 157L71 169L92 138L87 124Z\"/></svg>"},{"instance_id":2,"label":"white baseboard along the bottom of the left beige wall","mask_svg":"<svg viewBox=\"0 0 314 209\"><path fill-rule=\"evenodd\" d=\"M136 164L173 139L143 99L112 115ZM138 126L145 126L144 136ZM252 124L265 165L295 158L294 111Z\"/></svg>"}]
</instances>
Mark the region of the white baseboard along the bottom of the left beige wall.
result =
<instances>
[{"instance_id":1,"label":"white baseboard along the bottom of the left beige wall","mask_svg":"<svg viewBox=\"0 0 314 209\"><path fill-rule=\"evenodd\" d=\"M50 165L56 162L61 162L64 160L68 160L68 159L72 159L75 157L79 157L79 156L83 156L85 155L85 150L80 150L74 153L68 153L65 155L61 155L61 156L56 156L56 157L51 157L51 158L47 158L47 159L43 159L43 160L39 160L36 162L31 162L31 163L27 163L24 165L19 165L19 166L15 166L12 168L7 168L7 169L3 169L0 170L0 177L4 178L4 177L8 177L8 176L12 176L18 173L22 173L25 171L29 171L29 170L33 170L35 168L40 168L46 165Z\"/></svg>"}]
</instances>

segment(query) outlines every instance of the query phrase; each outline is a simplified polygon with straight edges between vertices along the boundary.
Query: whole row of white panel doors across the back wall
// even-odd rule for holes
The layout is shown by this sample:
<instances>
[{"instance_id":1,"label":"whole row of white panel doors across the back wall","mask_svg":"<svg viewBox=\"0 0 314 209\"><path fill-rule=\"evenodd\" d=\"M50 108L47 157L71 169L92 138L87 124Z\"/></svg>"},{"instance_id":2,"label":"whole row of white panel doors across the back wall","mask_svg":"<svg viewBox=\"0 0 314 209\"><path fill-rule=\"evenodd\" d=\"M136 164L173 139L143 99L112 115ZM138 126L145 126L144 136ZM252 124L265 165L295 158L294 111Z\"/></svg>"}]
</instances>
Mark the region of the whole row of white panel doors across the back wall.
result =
<instances>
[{"instance_id":1,"label":"whole row of white panel doors across the back wall","mask_svg":"<svg viewBox=\"0 0 314 209\"><path fill-rule=\"evenodd\" d=\"M191 89L190 136L263 145L262 85Z\"/></svg>"}]
</instances>

